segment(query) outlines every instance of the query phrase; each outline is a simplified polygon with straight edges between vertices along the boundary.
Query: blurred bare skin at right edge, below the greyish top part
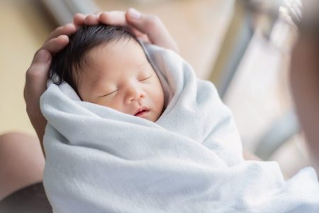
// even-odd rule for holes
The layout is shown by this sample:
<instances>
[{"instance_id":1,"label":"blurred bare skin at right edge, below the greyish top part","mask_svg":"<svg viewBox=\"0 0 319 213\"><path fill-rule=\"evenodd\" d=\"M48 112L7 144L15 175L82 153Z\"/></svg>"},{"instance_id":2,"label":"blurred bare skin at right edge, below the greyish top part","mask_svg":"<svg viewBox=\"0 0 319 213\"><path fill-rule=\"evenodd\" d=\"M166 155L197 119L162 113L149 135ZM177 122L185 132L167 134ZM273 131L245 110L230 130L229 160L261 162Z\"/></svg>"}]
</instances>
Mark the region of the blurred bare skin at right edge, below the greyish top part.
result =
<instances>
[{"instance_id":1,"label":"blurred bare skin at right edge, below the greyish top part","mask_svg":"<svg viewBox=\"0 0 319 213\"><path fill-rule=\"evenodd\" d=\"M291 89L298 119L308 142L312 164L319 173L319 41L302 33L291 59Z\"/></svg>"}]
</instances>

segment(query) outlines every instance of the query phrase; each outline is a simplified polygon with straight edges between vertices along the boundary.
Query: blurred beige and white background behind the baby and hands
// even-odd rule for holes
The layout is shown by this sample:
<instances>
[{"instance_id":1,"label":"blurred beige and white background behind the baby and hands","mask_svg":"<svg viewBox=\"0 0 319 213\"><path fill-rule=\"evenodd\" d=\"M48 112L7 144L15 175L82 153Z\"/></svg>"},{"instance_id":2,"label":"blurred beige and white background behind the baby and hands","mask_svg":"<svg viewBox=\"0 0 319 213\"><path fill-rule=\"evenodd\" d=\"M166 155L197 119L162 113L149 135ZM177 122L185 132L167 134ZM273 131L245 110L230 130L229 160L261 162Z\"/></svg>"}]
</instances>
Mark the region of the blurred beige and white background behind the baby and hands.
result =
<instances>
[{"instance_id":1,"label":"blurred beige and white background behind the baby and hands","mask_svg":"<svg viewBox=\"0 0 319 213\"><path fill-rule=\"evenodd\" d=\"M2 0L0 133L35 135L23 100L25 72L47 35L74 13L125 11L162 19L180 55L218 87L245 148L287 176L309 165L289 89L298 0Z\"/></svg>"}]
</instances>

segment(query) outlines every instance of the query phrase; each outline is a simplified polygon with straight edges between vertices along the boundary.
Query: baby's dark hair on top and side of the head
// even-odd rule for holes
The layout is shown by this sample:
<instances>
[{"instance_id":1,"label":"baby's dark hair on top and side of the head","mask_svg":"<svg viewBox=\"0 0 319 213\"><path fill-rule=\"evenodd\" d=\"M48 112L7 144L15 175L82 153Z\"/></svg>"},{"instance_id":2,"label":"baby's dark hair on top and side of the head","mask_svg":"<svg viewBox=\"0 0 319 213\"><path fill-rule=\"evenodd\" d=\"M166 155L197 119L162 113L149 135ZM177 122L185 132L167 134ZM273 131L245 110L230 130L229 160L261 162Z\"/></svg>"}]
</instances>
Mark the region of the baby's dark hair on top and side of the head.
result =
<instances>
[{"instance_id":1,"label":"baby's dark hair on top and side of the head","mask_svg":"<svg viewBox=\"0 0 319 213\"><path fill-rule=\"evenodd\" d=\"M80 27L69 38L69 44L52 59L50 80L55 84L67 82L78 93L79 82L75 76L85 64L86 53L100 45L131 38L136 40L135 35L119 26L99 24Z\"/></svg>"}]
</instances>

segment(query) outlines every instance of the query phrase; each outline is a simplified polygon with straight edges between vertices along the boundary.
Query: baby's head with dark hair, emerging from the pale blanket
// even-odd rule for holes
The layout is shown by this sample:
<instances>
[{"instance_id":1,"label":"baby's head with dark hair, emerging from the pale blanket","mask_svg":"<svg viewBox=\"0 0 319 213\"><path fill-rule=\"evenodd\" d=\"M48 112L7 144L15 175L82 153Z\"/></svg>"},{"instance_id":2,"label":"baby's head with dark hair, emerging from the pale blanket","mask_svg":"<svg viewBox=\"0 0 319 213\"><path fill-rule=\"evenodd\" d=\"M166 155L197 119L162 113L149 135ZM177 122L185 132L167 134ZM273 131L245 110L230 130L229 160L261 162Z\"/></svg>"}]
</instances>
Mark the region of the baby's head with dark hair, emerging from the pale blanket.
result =
<instances>
[{"instance_id":1,"label":"baby's head with dark hair, emerging from the pale blanket","mask_svg":"<svg viewBox=\"0 0 319 213\"><path fill-rule=\"evenodd\" d=\"M164 109L159 78L125 28L82 26L53 58L50 77L67 82L84 102L125 114L157 121Z\"/></svg>"}]
</instances>

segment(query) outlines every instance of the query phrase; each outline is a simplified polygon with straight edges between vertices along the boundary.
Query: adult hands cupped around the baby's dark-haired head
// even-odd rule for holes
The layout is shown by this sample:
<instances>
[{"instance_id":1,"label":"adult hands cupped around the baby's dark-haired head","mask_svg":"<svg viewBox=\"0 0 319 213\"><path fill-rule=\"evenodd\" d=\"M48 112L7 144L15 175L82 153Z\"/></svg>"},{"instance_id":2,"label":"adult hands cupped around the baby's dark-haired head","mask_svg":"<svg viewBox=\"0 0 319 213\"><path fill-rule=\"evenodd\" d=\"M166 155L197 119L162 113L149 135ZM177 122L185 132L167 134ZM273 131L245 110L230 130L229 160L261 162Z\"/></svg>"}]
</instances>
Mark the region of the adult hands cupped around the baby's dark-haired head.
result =
<instances>
[{"instance_id":1,"label":"adult hands cupped around the baby's dark-haired head","mask_svg":"<svg viewBox=\"0 0 319 213\"><path fill-rule=\"evenodd\" d=\"M109 11L91 15L78 13L74 16L73 23L56 28L35 53L33 62L26 72L24 88L27 113L42 148L46 120L41 114L39 101L40 96L46 89L52 55L65 48L69 43L68 36L77 31L79 26L96 25L98 23L127 27L142 40L148 40L150 43L163 48L178 51L177 44L157 16L142 14L135 9L128 9L126 12Z\"/></svg>"}]
</instances>

